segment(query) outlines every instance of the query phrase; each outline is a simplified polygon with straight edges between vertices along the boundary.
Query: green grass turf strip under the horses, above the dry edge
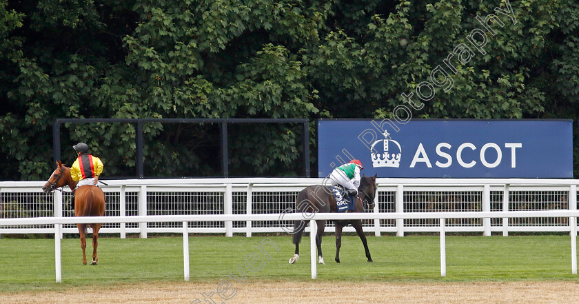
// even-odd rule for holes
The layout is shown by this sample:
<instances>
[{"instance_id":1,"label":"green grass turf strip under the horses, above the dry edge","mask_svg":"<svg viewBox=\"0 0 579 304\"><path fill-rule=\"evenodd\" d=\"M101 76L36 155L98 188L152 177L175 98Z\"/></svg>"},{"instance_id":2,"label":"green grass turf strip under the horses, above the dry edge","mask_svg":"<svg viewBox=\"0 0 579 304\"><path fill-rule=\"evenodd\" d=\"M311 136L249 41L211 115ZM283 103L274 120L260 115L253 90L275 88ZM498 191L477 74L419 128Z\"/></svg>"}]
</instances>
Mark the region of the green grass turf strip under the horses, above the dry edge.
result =
<instances>
[{"instance_id":1,"label":"green grass turf strip under the horses, above the dry edge","mask_svg":"<svg viewBox=\"0 0 579 304\"><path fill-rule=\"evenodd\" d=\"M278 247L257 246L271 239ZM438 236L369 236L374 263L367 263L357 236L344 236L341 262L334 262L334 236L325 236L326 265L318 265L318 280L341 281L565 281L571 274L569 236L447 236L447 276L440 276ZM183 281L183 239L99 239L99 265L82 265L79 239L62 240L63 283L55 282L53 239L0 239L0 292L59 290L88 284L112 285L142 281ZM215 282L232 274L249 281L310 278L309 237L301 243L301 259L293 256L290 236L200 236L190 238L190 280ZM261 254L263 266L250 271L245 259ZM90 261L92 244L88 239ZM256 261L258 266L261 259ZM240 266L241 265L241 266ZM231 281L231 278L229 278Z\"/></svg>"}]
</instances>

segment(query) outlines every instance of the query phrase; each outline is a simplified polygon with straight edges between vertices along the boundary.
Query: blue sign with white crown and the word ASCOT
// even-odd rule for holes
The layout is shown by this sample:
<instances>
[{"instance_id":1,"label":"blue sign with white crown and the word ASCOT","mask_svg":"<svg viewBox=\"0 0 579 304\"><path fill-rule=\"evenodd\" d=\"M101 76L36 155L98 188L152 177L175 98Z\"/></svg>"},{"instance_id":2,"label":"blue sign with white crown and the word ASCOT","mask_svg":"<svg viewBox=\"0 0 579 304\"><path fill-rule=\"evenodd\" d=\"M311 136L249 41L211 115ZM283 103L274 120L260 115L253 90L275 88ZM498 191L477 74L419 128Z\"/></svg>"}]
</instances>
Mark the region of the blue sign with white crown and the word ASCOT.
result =
<instances>
[{"instance_id":1,"label":"blue sign with white crown and the word ASCOT","mask_svg":"<svg viewBox=\"0 0 579 304\"><path fill-rule=\"evenodd\" d=\"M351 159L378 177L572 178L573 121L319 120L319 176Z\"/></svg>"}]
</instances>

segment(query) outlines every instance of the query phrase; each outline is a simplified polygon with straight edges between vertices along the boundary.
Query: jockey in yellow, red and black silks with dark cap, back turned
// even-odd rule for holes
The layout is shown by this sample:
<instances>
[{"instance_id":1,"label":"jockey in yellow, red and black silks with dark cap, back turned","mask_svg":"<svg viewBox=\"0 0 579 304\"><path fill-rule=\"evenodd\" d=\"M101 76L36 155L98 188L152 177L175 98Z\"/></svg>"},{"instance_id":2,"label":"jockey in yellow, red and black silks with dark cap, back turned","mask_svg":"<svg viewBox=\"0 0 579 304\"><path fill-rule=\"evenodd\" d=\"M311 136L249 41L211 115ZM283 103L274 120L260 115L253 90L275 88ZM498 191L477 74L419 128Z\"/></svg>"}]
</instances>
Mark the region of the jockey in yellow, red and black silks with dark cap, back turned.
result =
<instances>
[{"instance_id":1,"label":"jockey in yellow, red and black silks with dark cap, back turned","mask_svg":"<svg viewBox=\"0 0 579 304\"><path fill-rule=\"evenodd\" d=\"M96 156L88 154L88 145L86 143L77 143L73 145L74 151L77 151L78 158L72 163L70 167L70 176L73 181L78 181L77 190L83 185L96 185L99 183L99 176L103 172L103 162ZM74 209L74 196L70 201L72 209Z\"/></svg>"}]
</instances>

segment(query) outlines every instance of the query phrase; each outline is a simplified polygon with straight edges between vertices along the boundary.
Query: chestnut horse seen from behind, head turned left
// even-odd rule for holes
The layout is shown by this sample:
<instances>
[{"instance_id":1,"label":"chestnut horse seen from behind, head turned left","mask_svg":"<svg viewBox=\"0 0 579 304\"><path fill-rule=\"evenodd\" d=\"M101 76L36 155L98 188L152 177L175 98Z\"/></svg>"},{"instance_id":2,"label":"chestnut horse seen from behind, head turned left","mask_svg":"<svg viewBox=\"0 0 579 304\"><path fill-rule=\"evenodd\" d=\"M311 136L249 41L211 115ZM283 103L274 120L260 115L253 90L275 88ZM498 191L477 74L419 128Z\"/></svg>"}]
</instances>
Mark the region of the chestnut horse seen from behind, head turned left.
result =
<instances>
[{"instance_id":1,"label":"chestnut horse seen from behind, head turned left","mask_svg":"<svg viewBox=\"0 0 579 304\"><path fill-rule=\"evenodd\" d=\"M50 179L44 184L44 193L50 193L58 188L68 185L70 190L77 188L77 181L73 181L70 176L70 168L57 161L57 169L52 172ZM95 185L83 185L74 194L74 215L75 216L103 216L105 215L105 193ZM86 265L86 237L87 228L92 227L92 261L90 265L99 262L96 256L96 247L99 247L99 230L101 224L77 224L81 234L81 247L83 248L83 265ZM58 237L58 236L56 236Z\"/></svg>"}]
</instances>

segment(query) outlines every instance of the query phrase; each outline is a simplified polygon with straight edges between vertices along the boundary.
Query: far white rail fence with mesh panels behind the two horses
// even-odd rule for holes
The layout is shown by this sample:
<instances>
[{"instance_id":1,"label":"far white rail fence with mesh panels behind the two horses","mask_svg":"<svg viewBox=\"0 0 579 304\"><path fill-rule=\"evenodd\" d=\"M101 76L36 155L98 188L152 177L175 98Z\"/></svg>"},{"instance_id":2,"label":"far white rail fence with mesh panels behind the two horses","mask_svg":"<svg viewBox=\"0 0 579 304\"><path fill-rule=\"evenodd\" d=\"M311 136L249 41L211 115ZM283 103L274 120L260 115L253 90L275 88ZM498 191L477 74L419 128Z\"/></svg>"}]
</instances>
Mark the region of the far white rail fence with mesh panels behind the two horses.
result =
<instances>
[{"instance_id":1,"label":"far white rail fence with mesh panels behind the two horses","mask_svg":"<svg viewBox=\"0 0 579 304\"><path fill-rule=\"evenodd\" d=\"M323 179L159 179L107 181L105 216L153 216L196 214L281 214L294 207L297 194ZM72 217L70 190L44 194L44 182L0 182L0 219ZM407 212L499 212L576 210L577 183L572 179L378 179L376 206L369 213ZM365 219L364 231L396 233L438 232L436 218ZM232 236L256 232L285 232L291 221L240 220L191 221L194 233L223 233ZM101 233L181 233L180 221L106 223ZM519 216L513 218L453 218L448 232L565 232L568 217ZM333 232L328 223L326 232ZM78 233L76 225L63 225L62 233ZM345 232L354 232L346 227ZM54 233L52 225L30 223L0 227L0 234Z\"/></svg>"}]
</instances>

